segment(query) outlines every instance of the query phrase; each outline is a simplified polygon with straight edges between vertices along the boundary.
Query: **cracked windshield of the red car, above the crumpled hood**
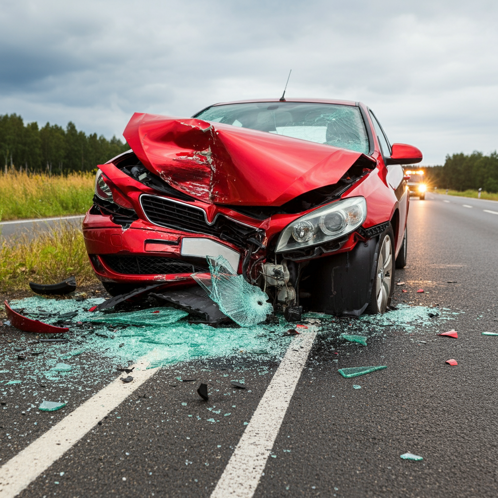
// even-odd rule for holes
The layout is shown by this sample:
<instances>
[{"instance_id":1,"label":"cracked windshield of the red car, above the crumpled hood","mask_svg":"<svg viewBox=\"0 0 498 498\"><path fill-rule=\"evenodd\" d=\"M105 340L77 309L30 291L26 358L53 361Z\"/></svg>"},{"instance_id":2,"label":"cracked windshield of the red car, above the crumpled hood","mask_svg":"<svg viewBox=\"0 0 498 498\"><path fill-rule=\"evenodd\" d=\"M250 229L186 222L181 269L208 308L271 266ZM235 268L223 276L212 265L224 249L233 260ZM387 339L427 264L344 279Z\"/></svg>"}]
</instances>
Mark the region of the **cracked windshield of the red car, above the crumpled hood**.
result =
<instances>
[{"instance_id":1,"label":"cracked windshield of the red car, above the crumpled hood","mask_svg":"<svg viewBox=\"0 0 498 498\"><path fill-rule=\"evenodd\" d=\"M268 131L368 154L360 108L304 102L253 102L213 106L196 118Z\"/></svg>"}]
</instances>

